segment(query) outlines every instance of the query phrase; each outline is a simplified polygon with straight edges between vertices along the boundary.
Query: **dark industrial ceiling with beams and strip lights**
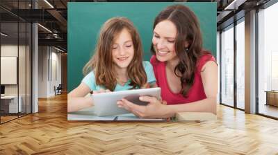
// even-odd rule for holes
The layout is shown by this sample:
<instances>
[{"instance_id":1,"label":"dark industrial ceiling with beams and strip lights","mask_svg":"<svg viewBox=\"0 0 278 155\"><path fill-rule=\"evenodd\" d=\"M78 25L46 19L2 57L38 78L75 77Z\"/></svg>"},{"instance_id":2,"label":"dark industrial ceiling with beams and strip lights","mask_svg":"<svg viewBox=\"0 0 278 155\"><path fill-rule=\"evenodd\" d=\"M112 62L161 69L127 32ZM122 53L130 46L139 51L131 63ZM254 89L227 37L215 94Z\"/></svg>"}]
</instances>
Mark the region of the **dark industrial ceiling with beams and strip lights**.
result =
<instances>
[{"instance_id":1,"label":"dark industrial ceiling with beams and strip lights","mask_svg":"<svg viewBox=\"0 0 278 155\"><path fill-rule=\"evenodd\" d=\"M106 2L117 0L1 0L1 32L8 33L10 39L19 40L29 30L20 22L38 22L39 46L56 46L67 51L67 2ZM122 0L124 1L124 0ZM125 0L126 2L128 0ZM131 1L131 0L129 0ZM157 0L138 0L140 2ZM169 0L161 0L169 1ZM173 0L172 0L173 1ZM183 0L174 0L183 1ZM234 22L234 17L244 16L244 12L263 5L270 0L186 0L187 2L217 2L218 30ZM36 9L34 9L36 8ZM234 16L237 14L236 16ZM17 34L17 29L19 33ZM27 32L27 33L25 33ZM2 38L2 37L1 37ZM8 40L6 38L6 40ZM3 40L2 40L3 41Z\"/></svg>"}]
</instances>

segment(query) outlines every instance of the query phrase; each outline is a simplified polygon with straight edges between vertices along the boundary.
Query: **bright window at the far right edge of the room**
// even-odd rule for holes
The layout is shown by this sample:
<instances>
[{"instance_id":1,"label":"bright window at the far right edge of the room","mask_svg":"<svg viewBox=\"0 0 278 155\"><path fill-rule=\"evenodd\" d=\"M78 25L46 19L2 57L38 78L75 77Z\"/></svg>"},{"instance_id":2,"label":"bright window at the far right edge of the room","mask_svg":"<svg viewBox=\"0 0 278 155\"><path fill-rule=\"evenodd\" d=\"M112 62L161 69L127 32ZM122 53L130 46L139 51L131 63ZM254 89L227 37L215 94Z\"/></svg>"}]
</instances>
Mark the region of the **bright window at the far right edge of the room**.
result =
<instances>
[{"instance_id":1,"label":"bright window at the far right edge of the room","mask_svg":"<svg viewBox=\"0 0 278 155\"><path fill-rule=\"evenodd\" d=\"M259 113L278 118L278 3L258 13Z\"/></svg>"}]
</instances>

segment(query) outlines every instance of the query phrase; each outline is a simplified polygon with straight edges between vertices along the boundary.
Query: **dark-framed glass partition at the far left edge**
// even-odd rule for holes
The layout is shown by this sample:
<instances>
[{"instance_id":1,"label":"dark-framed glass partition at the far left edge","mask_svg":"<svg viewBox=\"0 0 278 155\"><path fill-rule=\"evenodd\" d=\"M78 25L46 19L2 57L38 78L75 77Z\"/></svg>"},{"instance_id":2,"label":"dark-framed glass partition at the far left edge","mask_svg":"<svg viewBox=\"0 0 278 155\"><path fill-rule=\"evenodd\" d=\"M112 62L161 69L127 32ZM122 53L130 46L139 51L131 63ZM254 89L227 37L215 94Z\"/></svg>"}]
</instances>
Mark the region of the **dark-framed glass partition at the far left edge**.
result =
<instances>
[{"instance_id":1,"label":"dark-framed glass partition at the far left edge","mask_svg":"<svg viewBox=\"0 0 278 155\"><path fill-rule=\"evenodd\" d=\"M9 1L1 1L9 3ZM27 9L31 1L13 1L13 9ZM5 92L0 100L0 124L31 113L31 23L0 8L0 62L1 73L5 65L15 66L14 82L1 82ZM8 58L8 59L7 59ZM5 62L3 60L10 60ZM13 61L11 61L13 60ZM10 64L9 64L10 63ZM13 70L11 70L13 71ZM2 78L10 78L1 74ZM12 78L8 79L11 80Z\"/></svg>"}]
</instances>

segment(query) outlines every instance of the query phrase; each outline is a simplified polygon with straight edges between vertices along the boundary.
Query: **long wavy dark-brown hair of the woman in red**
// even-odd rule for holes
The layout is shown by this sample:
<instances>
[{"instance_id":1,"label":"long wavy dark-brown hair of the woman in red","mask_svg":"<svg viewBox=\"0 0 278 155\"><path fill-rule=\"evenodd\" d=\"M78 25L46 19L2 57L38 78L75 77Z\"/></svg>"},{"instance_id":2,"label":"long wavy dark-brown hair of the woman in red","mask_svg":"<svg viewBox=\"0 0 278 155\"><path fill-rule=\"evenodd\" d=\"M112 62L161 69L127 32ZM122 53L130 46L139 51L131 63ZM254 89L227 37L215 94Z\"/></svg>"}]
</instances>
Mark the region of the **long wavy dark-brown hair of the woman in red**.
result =
<instances>
[{"instance_id":1,"label":"long wavy dark-brown hair of the woman in red","mask_svg":"<svg viewBox=\"0 0 278 155\"><path fill-rule=\"evenodd\" d=\"M183 5L168 6L154 20L153 29L156 24L164 20L172 21L177 28L174 48L177 57L179 57L179 64L174 68L174 73L181 78L180 93L186 97L194 83L197 60L208 52L202 51L202 34L199 21L188 7ZM186 49L185 42L189 44L188 49ZM155 55L153 44L151 50Z\"/></svg>"}]
</instances>

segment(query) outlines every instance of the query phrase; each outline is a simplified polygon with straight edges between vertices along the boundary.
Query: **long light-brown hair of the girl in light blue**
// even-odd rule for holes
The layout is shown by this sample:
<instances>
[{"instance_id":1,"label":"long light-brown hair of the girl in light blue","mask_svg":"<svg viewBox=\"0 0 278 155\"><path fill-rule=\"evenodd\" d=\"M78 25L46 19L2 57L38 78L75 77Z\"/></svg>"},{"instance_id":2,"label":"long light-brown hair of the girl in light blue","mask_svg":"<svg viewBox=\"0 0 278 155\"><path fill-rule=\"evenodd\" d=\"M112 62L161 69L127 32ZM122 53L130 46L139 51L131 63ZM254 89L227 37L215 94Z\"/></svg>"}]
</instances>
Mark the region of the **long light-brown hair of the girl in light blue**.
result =
<instances>
[{"instance_id":1,"label":"long light-brown hair of the girl in light blue","mask_svg":"<svg viewBox=\"0 0 278 155\"><path fill-rule=\"evenodd\" d=\"M111 91L114 91L117 84L117 76L113 69L113 40L124 28L131 35L134 48L133 59L127 67L127 73L131 80L129 85L132 86L131 89L135 89L137 86L141 87L147 83L147 75L142 65L142 43L138 31L129 19L114 17L108 19L102 26L95 48L95 55L83 68L84 75L94 71L96 83Z\"/></svg>"}]
</instances>

